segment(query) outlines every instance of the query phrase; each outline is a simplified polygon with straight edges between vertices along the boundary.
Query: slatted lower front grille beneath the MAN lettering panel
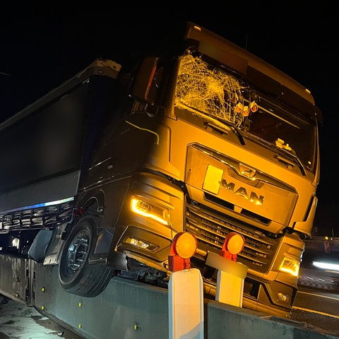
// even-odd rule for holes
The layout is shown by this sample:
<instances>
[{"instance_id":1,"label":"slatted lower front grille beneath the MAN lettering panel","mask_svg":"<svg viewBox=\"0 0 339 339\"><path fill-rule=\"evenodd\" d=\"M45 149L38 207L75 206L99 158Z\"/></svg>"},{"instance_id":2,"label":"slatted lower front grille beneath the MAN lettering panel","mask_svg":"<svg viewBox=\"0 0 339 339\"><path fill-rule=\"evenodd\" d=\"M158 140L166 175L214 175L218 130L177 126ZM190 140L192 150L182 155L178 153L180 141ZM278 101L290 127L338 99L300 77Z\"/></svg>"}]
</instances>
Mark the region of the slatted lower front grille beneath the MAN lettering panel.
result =
<instances>
[{"instance_id":1,"label":"slatted lower front grille beneath the MAN lettering panel","mask_svg":"<svg viewBox=\"0 0 339 339\"><path fill-rule=\"evenodd\" d=\"M199 249L218 254L227 234L230 232L242 234L245 245L237 254L237 261L261 273L269 270L280 242L280 239L270 238L249 224L198 203L186 204L186 231L196 235Z\"/></svg>"}]
</instances>

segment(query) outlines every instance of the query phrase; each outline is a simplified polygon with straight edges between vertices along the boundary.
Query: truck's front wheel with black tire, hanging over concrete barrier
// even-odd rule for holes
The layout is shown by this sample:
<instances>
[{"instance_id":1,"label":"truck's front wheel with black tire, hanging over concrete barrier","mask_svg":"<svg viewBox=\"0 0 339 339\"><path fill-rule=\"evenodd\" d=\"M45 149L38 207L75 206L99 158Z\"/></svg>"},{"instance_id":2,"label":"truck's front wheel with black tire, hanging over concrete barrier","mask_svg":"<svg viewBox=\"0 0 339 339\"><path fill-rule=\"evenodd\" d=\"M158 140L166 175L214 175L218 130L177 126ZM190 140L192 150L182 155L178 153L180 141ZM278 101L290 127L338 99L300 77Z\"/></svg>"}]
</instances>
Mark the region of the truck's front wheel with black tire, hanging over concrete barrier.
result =
<instances>
[{"instance_id":1,"label":"truck's front wheel with black tire, hanging over concrete barrier","mask_svg":"<svg viewBox=\"0 0 339 339\"><path fill-rule=\"evenodd\" d=\"M59 261L59 284L73 295L95 297L105 290L112 278L112 268L90 265L97 239L97 222L85 214L73 226Z\"/></svg>"}]
</instances>

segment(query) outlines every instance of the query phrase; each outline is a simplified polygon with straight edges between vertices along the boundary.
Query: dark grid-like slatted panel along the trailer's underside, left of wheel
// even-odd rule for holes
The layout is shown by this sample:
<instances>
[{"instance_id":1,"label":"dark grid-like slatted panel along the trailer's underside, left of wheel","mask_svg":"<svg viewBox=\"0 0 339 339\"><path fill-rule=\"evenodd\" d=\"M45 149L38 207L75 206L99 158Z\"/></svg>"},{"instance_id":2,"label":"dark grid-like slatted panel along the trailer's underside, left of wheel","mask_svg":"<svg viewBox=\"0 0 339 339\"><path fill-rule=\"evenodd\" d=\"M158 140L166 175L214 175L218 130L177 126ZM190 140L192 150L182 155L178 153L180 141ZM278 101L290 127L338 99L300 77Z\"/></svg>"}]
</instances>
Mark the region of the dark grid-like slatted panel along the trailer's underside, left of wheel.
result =
<instances>
[{"instance_id":1,"label":"dark grid-like slatted panel along the trailer's underside, left of wheel","mask_svg":"<svg viewBox=\"0 0 339 339\"><path fill-rule=\"evenodd\" d=\"M69 202L16 210L0 215L0 233L9 230L53 229L56 225L71 220L72 215L73 205Z\"/></svg>"}]
</instances>

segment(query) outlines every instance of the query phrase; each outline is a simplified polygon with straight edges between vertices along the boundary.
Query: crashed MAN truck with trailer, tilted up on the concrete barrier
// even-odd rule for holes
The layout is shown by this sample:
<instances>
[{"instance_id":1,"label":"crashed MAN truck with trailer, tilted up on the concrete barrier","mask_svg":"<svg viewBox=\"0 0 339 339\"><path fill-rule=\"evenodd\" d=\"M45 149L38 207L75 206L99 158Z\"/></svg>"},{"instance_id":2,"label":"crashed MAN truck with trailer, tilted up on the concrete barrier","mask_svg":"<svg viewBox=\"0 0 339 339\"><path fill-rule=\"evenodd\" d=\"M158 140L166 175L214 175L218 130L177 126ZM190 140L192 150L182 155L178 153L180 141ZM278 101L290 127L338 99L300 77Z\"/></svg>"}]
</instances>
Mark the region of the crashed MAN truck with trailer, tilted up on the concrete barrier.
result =
<instances>
[{"instance_id":1,"label":"crashed MAN truck with trailer, tilted up on the concrete barrier","mask_svg":"<svg viewBox=\"0 0 339 339\"><path fill-rule=\"evenodd\" d=\"M132 71L95 59L0 124L0 293L16 299L18 258L57 268L71 295L96 297L114 277L166 289L172 241L190 232L191 268L213 299L208 258L235 232L242 307L290 317L318 201L321 110L196 23L171 53Z\"/></svg>"}]
</instances>

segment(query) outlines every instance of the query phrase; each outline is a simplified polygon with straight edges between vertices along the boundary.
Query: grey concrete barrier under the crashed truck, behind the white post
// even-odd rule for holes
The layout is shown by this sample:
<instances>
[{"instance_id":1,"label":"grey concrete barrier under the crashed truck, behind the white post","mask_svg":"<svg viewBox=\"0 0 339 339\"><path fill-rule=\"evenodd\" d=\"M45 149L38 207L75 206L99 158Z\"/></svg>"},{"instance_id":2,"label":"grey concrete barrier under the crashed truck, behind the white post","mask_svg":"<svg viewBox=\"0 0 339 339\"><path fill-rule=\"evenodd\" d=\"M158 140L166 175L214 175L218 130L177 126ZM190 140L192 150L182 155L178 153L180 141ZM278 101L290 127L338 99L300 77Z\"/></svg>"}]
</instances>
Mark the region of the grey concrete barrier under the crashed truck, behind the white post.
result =
<instances>
[{"instance_id":1,"label":"grey concrete barrier under the crashed truck, behind the white post","mask_svg":"<svg viewBox=\"0 0 339 339\"><path fill-rule=\"evenodd\" d=\"M0 276L4 274L1 267L5 267L2 261L8 263L8 257L0 256ZM27 278L25 295L30 305L85 339L172 339L169 338L168 291L165 288L115 277L101 295L78 297L59 286L57 266L28 265L27 261L18 259L15 263L20 277ZM28 275L21 274L28 270L31 270ZM0 290L0 293L3 292ZM16 299L15 294L16 286L12 284L5 295ZM321 333L320 329L309 328L305 323L215 300L204 300L203 312L205 339L339 338Z\"/></svg>"}]
</instances>

